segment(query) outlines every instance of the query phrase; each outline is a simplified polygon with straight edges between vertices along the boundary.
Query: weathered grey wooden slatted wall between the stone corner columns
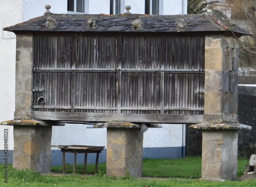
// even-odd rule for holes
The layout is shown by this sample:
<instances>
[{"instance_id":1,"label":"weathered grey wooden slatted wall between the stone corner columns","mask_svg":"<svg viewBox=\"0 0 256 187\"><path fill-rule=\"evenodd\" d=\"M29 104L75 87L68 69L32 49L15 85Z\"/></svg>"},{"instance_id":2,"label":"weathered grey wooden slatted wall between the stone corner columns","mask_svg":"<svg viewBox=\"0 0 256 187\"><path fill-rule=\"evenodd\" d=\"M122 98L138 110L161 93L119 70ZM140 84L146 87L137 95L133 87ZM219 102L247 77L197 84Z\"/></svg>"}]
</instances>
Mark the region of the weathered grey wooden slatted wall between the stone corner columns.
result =
<instances>
[{"instance_id":1,"label":"weathered grey wooden slatted wall between the stone corner columns","mask_svg":"<svg viewBox=\"0 0 256 187\"><path fill-rule=\"evenodd\" d=\"M35 111L204 111L204 37L36 36L33 72Z\"/></svg>"}]
</instances>

